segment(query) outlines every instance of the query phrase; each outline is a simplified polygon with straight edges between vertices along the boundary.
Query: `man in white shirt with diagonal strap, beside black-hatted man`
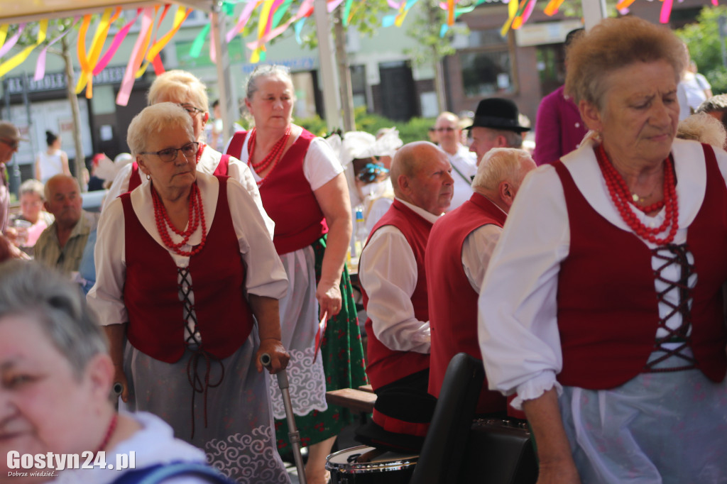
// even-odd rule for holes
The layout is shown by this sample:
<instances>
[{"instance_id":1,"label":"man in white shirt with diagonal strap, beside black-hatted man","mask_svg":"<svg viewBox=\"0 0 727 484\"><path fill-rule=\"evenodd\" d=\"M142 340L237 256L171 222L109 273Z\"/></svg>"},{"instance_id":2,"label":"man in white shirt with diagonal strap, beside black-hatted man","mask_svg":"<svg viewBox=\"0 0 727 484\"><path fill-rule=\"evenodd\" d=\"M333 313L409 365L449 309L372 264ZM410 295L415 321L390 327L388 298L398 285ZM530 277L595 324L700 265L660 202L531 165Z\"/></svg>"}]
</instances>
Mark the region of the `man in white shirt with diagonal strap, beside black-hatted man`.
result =
<instances>
[{"instance_id":1,"label":"man in white shirt with diagonal strap, beside black-hatted man","mask_svg":"<svg viewBox=\"0 0 727 484\"><path fill-rule=\"evenodd\" d=\"M477 172L475 160L467 146L462 145L462 129L459 127L459 118L454 113L444 112L437 117L434 124L439 148L446 153L449 164L452 166L452 179L454 180L454 194L448 211L456 209L465 203L472 195L472 177Z\"/></svg>"}]
</instances>

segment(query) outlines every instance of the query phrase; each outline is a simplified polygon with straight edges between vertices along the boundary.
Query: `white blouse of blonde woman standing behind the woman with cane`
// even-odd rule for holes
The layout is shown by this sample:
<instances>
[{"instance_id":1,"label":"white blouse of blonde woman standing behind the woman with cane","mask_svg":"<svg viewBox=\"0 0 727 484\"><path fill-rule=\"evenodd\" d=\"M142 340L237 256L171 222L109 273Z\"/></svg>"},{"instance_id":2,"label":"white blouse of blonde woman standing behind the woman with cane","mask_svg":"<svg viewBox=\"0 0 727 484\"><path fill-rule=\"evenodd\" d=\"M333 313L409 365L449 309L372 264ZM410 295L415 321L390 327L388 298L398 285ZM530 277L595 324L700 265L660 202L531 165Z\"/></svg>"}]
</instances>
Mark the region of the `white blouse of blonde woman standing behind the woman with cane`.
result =
<instances>
[{"instance_id":1,"label":"white blouse of blonde woman standing behind the woman with cane","mask_svg":"<svg viewBox=\"0 0 727 484\"><path fill-rule=\"evenodd\" d=\"M197 172L213 174L214 170L217 169L217 165L220 164L220 158L222 158L222 153L213 150L209 145L205 145L204 150L202 150L202 156L199 157ZM149 180L146 179L145 175L142 172L139 172L139 175L141 177L141 184L146 185ZM126 193L129 191L129 180L131 179L131 177L132 164L129 163L121 168L121 170L119 170L119 173L116 174L116 177L113 179L113 182L111 183L111 188L108 189L108 194L106 195L106 198L104 198L102 209L105 209L105 207L108 206L108 204L111 203L112 200L119 198L119 195L121 195L121 193ZM249 169L249 166L242 163L237 158L230 156L228 164L228 177L234 178L235 180L240 182L245 190L247 190L247 193L250 194L252 200L257 206L257 209L262 215L262 219L265 220L265 227L268 227L270 239L272 239L273 233L275 232L275 222L273 222L273 219L268 217L267 212L265 212L265 209L262 208L260 191L257 190L257 183L255 183L255 180L252 177L252 170Z\"/></svg>"}]
</instances>

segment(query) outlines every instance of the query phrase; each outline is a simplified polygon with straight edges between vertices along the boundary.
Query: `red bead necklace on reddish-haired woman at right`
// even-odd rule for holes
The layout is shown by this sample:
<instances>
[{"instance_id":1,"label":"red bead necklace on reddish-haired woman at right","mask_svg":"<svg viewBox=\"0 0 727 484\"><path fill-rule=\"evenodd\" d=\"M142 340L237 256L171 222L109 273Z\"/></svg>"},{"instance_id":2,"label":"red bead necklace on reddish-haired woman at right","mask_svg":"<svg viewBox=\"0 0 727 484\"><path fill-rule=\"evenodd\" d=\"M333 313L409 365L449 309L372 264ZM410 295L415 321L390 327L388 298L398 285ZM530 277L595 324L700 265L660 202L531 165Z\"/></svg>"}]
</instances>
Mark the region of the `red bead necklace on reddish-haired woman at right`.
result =
<instances>
[{"instance_id":1,"label":"red bead necklace on reddish-haired woman at right","mask_svg":"<svg viewBox=\"0 0 727 484\"><path fill-rule=\"evenodd\" d=\"M616 209L619 211L621 218L626 224L633 230L640 238L645 239L656 245L664 245L672 243L674 237L679 230L679 206L676 191L676 177L674 175L674 165L671 157L664 159L664 200L652 203L648 206L638 206L636 202L639 200L638 195L632 195L626 181L621 174L616 171L616 168L606 156L606 150L603 149L603 145L598 145L595 148L595 156L598 160L598 166L601 167L601 173L603 178L606 180L606 187L608 187L608 193L611 195L611 200L614 202ZM646 227L638 217L630 209L629 205L636 206L638 209L648 214L653 211L661 210L662 207L666 207L666 214L664 215L664 222L659 227ZM656 237L657 234L663 233L670 227L669 233L664 238Z\"/></svg>"}]
</instances>

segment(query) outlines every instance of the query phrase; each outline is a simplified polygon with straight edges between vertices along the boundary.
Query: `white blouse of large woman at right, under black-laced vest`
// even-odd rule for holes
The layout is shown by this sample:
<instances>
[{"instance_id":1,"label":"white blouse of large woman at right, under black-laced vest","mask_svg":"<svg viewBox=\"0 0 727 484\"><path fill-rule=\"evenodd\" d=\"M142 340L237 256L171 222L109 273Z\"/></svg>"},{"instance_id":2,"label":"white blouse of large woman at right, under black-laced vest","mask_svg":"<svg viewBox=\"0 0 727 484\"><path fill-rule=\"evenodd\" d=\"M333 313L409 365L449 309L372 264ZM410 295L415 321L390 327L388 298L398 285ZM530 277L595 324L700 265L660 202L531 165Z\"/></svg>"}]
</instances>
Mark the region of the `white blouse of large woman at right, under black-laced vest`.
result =
<instances>
[{"instance_id":1,"label":"white blouse of large woman at right, under black-laced vest","mask_svg":"<svg viewBox=\"0 0 727 484\"><path fill-rule=\"evenodd\" d=\"M674 140L672 154L679 201L679 230L673 243L681 244L686 242L688 227L702 206L706 169L702 147L696 142ZM715 155L725 177L727 153L715 148ZM614 226L632 233L611 201L593 142L563 157L563 163L590 206ZM635 208L632 211L648 227L658 227L664 220L664 209L654 217ZM654 244L643 242L654 249ZM538 398L554 386L561 390L555 381L563 366L556 296L558 272L568 257L569 244L569 216L561 180L553 166L539 166L518 190L478 301L478 334L489 387L506 395L518 392L512 403L515 408L521 408L522 400ZM662 260L652 258L654 270L662 265ZM662 271L672 281L678 280L679 274L678 265ZM695 283L694 277L688 281L691 287ZM667 288L658 280L654 286L657 292ZM678 291L667 292L666 299L678 303ZM660 318L670 311L667 304L659 302ZM679 312L667 320L670 328L680 324ZM665 334L664 328L659 328L655 336Z\"/></svg>"}]
</instances>

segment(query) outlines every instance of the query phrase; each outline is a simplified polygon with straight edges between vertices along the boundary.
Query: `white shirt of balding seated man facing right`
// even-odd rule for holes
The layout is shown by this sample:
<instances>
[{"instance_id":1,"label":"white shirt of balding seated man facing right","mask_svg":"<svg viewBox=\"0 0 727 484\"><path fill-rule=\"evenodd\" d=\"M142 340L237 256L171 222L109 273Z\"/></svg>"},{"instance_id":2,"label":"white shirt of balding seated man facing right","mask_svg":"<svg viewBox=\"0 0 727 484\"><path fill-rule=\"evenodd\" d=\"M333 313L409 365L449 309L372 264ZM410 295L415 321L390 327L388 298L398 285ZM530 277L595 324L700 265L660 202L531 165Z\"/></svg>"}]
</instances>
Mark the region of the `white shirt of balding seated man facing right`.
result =
<instances>
[{"instance_id":1,"label":"white shirt of balding seated man facing right","mask_svg":"<svg viewBox=\"0 0 727 484\"><path fill-rule=\"evenodd\" d=\"M397 200L428 222L440 217ZM401 230L386 225L371 235L358 263L358 280L369 296L366 314L374 335L391 350L430 351L429 321L418 320L411 304L418 277L417 259Z\"/></svg>"}]
</instances>

